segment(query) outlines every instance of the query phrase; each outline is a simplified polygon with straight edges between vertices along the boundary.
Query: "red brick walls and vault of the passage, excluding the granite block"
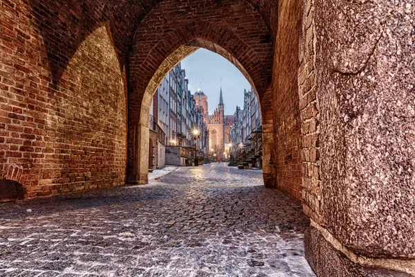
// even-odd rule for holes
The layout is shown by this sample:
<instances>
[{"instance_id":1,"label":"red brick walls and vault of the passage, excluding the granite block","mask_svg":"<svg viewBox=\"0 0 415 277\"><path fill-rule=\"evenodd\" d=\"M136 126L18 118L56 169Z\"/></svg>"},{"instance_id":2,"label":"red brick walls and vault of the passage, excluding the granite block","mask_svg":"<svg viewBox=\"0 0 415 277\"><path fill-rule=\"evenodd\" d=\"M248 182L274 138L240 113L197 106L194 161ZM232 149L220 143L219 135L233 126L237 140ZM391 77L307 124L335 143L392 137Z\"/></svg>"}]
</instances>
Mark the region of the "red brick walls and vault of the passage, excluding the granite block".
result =
<instances>
[{"instance_id":1,"label":"red brick walls and vault of the passage, excluding the granite block","mask_svg":"<svg viewBox=\"0 0 415 277\"><path fill-rule=\"evenodd\" d=\"M147 84L185 44L223 55L255 85L264 128L275 126L267 160L300 199L297 2L0 0L2 177L30 197L123 184Z\"/></svg>"}]
</instances>

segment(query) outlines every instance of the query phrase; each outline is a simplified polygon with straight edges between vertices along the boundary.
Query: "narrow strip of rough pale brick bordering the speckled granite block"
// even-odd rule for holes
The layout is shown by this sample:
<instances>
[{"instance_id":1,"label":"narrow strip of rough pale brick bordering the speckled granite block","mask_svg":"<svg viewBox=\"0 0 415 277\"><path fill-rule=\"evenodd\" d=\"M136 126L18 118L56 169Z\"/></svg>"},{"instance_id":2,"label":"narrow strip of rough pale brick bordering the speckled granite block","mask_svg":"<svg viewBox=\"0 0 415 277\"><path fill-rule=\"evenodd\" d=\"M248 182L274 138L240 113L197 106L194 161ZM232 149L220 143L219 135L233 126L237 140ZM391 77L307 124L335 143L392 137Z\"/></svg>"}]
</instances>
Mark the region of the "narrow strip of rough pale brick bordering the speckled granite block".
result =
<instances>
[{"instance_id":1,"label":"narrow strip of rough pale brick bordering the speckled granite block","mask_svg":"<svg viewBox=\"0 0 415 277\"><path fill-rule=\"evenodd\" d=\"M315 84L314 1L303 1L302 36L299 43L299 109L302 121L302 186L304 213L320 222L320 106Z\"/></svg>"}]
</instances>

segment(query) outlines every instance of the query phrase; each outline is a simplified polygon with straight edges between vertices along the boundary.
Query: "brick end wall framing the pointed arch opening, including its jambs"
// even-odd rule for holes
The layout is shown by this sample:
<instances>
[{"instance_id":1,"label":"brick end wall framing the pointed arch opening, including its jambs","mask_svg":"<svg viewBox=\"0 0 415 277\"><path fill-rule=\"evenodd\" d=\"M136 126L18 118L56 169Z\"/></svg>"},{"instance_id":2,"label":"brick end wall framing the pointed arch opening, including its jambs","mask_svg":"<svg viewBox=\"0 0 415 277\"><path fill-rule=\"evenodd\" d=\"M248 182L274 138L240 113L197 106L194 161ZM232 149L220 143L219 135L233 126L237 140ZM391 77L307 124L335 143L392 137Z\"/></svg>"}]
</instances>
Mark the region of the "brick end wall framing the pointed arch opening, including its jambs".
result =
<instances>
[{"instance_id":1,"label":"brick end wall framing the pointed arch opening, including its jambs","mask_svg":"<svg viewBox=\"0 0 415 277\"><path fill-rule=\"evenodd\" d=\"M148 116L151 98L170 69L197 48L222 55L236 66L257 92L263 115L264 159L273 151L270 80L272 35L266 22L246 1L188 1L182 15L163 1L142 21L130 57L128 180L147 183ZM228 17L223 18L223 10ZM198 12L203 14L199 18ZM177 15L176 15L177 14ZM273 166L266 163L266 184L274 185Z\"/></svg>"}]
</instances>

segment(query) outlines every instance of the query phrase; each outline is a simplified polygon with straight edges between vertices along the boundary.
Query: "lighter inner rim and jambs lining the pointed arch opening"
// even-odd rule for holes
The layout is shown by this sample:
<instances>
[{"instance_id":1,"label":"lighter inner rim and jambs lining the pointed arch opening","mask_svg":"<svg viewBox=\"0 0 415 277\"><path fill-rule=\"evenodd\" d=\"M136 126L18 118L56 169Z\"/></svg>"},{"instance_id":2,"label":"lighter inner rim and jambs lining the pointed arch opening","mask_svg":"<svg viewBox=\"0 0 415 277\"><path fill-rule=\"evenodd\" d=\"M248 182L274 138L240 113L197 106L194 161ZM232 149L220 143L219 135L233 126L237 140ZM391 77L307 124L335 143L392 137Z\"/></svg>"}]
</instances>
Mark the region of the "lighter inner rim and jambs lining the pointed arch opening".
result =
<instances>
[{"instance_id":1,"label":"lighter inner rim and jambs lining the pointed arch opening","mask_svg":"<svg viewBox=\"0 0 415 277\"><path fill-rule=\"evenodd\" d=\"M151 106L151 99L156 92L156 89L160 82L163 80L165 75L176 65L178 62L181 62L187 55L192 54L198 48L206 48L214 53L219 53L223 57L230 57L230 53L226 52L220 46L208 42L204 39L194 39L192 42L189 42L187 45L180 46L176 51L174 51L169 57L167 57L162 64L156 70L156 73L152 76L151 80L148 82L145 92L140 94L139 113L131 114L129 116L137 116L136 118L131 118L129 122L129 176L128 181L130 183L137 184L147 184L148 181L148 152L149 152L149 112ZM261 109L261 114L263 118L270 114L270 109L264 109L263 107L268 107L267 98L264 96L261 97L258 93L258 90L255 86L255 83L252 82L250 75L246 75L246 70L243 69L241 64L234 60L234 58L228 58L238 69L243 72L246 76L248 82L252 85L257 97L259 98L259 105ZM236 61L236 62L235 62ZM266 90L262 95L270 94L270 89ZM131 102L130 109L131 109ZM135 119L135 120L134 120ZM132 123L132 124L131 124ZM273 151L273 141L272 141L272 121L266 120L263 121L263 132L264 132L264 160L269 161L270 155ZM131 150L133 150L131 152ZM131 155L131 156L130 156ZM130 160L131 159L131 160ZM268 163L264 163L264 179L267 186L274 185L274 168Z\"/></svg>"}]
</instances>

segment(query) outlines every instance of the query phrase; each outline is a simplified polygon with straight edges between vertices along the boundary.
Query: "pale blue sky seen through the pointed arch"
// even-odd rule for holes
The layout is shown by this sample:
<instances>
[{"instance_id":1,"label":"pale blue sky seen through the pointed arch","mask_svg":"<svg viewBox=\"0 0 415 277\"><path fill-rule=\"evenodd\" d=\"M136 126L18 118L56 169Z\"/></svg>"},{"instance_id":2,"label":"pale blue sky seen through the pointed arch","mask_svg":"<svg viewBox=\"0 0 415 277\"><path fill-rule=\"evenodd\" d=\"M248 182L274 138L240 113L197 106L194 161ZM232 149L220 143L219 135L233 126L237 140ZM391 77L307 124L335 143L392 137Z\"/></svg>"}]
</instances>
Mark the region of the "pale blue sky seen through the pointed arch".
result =
<instances>
[{"instance_id":1,"label":"pale blue sky seen through the pointed arch","mask_svg":"<svg viewBox=\"0 0 415 277\"><path fill-rule=\"evenodd\" d=\"M186 57L181 66L186 71L192 94L201 82L201 89L208 96L209 114L218 107L221 78L225 114L234 114L237 105L243 108L243 89L250 89L251 86L241 71L224 57L200 48Z\"/></svg>"}]
</instances>

